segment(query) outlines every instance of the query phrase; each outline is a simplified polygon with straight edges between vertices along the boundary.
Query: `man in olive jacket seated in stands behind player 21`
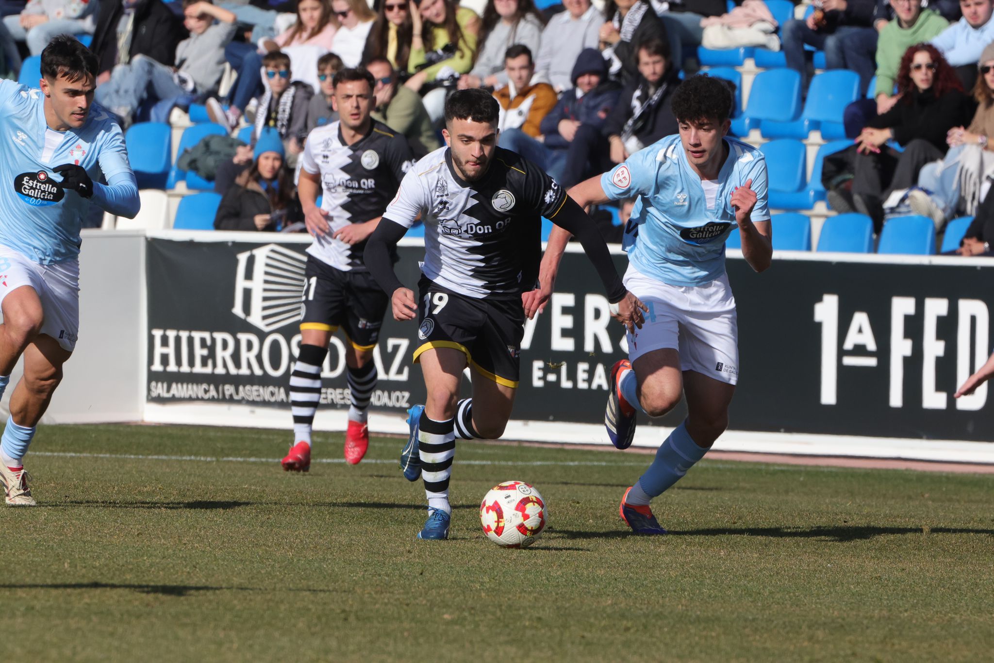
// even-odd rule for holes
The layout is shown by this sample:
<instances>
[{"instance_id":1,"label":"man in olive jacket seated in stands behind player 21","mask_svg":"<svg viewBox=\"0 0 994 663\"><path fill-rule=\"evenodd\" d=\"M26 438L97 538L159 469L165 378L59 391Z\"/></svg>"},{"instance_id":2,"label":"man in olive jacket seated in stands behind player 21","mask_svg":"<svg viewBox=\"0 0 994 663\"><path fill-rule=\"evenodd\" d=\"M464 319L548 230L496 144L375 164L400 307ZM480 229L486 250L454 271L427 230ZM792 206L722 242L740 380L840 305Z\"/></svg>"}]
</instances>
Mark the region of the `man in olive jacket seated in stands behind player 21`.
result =
<instances>
[{"instance_id":1,"label":"man in olive jacket seated in stands behind player 21","mask_svg":"<svg viewBox=\"0 0 994 663\"><path fill-rule=\"evenodd\" d=\"M415 159L441 147L421 97L414 90L398 84L397 71L390 61L374 58L366 69L376 80L373 118L403 134L411 145Z\"/></svg>"}]
</instances>

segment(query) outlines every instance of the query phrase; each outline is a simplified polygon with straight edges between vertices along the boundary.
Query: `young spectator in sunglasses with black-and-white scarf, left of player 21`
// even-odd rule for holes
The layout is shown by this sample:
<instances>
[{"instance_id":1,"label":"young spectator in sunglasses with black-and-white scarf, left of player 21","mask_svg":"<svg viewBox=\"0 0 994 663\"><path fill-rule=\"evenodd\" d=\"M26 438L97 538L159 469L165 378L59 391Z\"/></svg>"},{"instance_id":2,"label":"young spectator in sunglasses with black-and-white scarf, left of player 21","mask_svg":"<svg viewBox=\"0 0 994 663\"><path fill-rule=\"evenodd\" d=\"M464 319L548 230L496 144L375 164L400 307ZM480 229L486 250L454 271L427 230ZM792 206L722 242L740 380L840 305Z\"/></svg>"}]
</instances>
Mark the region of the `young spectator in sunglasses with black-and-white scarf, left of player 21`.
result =
<instances>
[{"instance_id":1,"label":"young spectator in sunglasses with black-and-white scarf, left of player 21","mask_svg":"<svg viewBox=\"0 0 994 663\"><path fill-rule=\"evenodd\" d=\"M290 58L281 51L265 54L262 67L265 68L268 89L258 98L255 106L252 141L261 135L265 127L274 128L286 148L286 165L294 168L307 138L307 109L314 90L307 83L293 81Z\"/></svg>"}]
</instances>

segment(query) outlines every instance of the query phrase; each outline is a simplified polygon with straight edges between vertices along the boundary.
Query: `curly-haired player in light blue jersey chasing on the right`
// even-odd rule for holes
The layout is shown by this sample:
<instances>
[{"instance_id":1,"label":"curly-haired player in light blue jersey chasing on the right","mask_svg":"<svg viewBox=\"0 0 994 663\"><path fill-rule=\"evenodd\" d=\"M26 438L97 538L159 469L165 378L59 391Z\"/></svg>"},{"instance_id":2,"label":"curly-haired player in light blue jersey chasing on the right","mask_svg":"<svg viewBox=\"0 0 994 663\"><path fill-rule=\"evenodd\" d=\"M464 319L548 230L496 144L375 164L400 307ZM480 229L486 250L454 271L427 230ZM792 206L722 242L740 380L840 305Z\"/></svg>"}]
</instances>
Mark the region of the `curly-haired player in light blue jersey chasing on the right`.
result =
<instances>
[{"instance_id":1,"label":"curly-haired player in light blue jersey chasing on the right","mask_svg":"<svg viewBox=\"0 0 994 663\"><path fill-rule=\"evenodd\" d=\"M649 307L627 335L628 357L611 371L604 423L618 448L631 444L635 413L669 413L687 399L687 418L621 498L637 534L663 534L649 501L676 483L728 424L739 379L736 302L725 273L725 241L736 227L745 260L769 266L769 211L762 153L727 137L732 93L696 76L673 94L679 135L668 136L570 191L580 206L637 196L625 228L624 284ZM552 292L569 234L554 229L543 258L541 295Z\"/></svg>"}]
</instances>

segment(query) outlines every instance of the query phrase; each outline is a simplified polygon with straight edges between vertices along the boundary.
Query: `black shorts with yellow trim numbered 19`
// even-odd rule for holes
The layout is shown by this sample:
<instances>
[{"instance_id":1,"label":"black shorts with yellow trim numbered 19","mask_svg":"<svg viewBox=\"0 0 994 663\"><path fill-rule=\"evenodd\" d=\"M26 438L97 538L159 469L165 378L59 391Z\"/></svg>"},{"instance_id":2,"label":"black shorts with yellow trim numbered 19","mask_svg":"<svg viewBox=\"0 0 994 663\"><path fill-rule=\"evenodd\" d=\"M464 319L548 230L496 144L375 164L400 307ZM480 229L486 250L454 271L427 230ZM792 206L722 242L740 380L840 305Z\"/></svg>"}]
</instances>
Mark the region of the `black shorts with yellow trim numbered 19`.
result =
<instances>
[{"instance_id":1,"label":"black shorts with yellow trim numbered 19","mask_svg":"<svg viewBox=\"0 0 994 663\"><path fill-rule=\"evenodd\" d=\"M525 311L521 297L477 299L421 276L417 284L417 349L453 348L473 369L505 387L518 387Z\"/></svg>"}]
</instances>

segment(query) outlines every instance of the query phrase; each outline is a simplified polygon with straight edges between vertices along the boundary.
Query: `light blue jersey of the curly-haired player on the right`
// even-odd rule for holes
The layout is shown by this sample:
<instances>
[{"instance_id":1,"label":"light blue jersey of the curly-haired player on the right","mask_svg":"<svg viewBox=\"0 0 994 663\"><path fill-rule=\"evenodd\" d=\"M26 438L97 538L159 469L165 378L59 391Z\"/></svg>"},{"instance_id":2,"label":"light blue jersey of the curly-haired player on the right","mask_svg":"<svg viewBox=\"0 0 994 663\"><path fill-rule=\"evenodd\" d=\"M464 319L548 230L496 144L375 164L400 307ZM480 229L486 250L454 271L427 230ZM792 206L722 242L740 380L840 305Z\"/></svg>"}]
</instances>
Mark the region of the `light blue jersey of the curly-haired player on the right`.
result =
<instances>
[{"instance_id":1,"label":"light blue jersey of the curly-haired player on the right","mask_svg":"<svg viewBox=\"0 0 994 663\"><path fill-rule=\"evenodd\" d=\"M762 152L735 138L725 142L729 156L718 175L711 210L701 176L687 161L679 134L639 150L600 176L610 200L638 197L622 246L629 261L646 276L691 286L724 274L725 241L736 228L732 192L748 180L756 194L752 221L769 220Z\"/></svg>"}]
</instances>

